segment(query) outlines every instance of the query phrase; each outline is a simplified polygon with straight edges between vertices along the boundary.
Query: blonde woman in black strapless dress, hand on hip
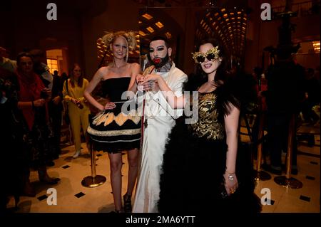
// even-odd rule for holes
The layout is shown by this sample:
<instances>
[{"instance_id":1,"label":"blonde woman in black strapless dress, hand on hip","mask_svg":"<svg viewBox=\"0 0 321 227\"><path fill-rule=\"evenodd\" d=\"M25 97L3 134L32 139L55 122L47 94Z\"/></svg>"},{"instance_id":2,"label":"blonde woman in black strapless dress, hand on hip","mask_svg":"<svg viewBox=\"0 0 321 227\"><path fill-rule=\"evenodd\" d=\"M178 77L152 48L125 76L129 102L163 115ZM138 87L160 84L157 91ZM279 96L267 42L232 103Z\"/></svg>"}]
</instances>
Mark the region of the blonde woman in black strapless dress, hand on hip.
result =
<instances>
[{"instance_id":1,"label":"blonde woman in black strapless dress, hand on hip","mask_svg":"<svg viewBox=\"0 0 321 227\"><path fill-rule=\"evenodd\" d=\"M141 139L141 117L126 115L121 108L125 100L122 94L127 90L136 92L136 75L141 72L137 63L128 63L129 49L136 47L136 39L133 33L118 31L106 33L103 41L113 53L113 62L98 69L93 79L85 90L85 97L93 106L101 112L90 122L88 134L93 141L96 150L108 152L111 164L111 188L115 211L122 212L121 203L121 152L128 151L128 185L127 192L123 196L124 210L131 212L131 195L135 186L138 171L138 148ZM102 83L102 95L108 95L106 105L101 105L92 96L91 92Z\"/></svg>"}]
</instances>

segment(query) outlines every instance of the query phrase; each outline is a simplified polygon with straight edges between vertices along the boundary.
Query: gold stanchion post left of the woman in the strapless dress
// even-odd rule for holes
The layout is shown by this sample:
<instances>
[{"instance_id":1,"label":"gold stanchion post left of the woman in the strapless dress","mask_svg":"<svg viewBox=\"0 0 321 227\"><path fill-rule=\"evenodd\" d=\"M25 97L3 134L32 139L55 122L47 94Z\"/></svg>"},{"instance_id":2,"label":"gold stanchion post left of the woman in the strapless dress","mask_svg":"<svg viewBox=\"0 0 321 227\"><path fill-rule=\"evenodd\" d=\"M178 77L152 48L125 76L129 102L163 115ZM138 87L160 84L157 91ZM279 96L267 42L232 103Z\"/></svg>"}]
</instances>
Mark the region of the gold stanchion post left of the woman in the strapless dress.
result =
<instances>
[{"instance_id":1,"label":"gold stanchion post left of the woman in the strapless dress","mask_svg":"<svg viewBox=\"0 0 321 227\"><path fill-rule=\"evenodd\" d=\"M84 177L81 181L81 185L86 186L88 188L93 188L105 183L106 177L96 175L96 151L93 149L93 142L91 139L89 139L89 143L91 148L91 176Z\"/></svg>"}]
</instances>

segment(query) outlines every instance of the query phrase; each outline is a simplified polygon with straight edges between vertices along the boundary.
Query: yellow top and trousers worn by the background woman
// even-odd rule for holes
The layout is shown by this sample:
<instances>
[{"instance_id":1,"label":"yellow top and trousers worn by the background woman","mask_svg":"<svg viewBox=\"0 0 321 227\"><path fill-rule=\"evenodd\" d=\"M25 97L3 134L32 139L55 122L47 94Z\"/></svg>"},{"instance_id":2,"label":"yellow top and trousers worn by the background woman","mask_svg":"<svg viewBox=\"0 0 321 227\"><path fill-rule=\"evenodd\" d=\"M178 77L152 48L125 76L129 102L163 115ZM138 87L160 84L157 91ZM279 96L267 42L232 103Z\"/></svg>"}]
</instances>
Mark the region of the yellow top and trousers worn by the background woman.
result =
<instances>
[{"instance_id":1,"label":"yellow top and trousers worn by the background woman","mask_svg":"<svg viewBox=\"0 0 321 227\"><path fill-rule=\"evenodd\" d=\"M75 82L75 88L72 87L70 79L68 79L68 92L66 88L66 81L63 83L63 100L68 105L68 115L70 118L71 129L73 131L73 142L75 144L76 151L81 149L81 126L83 128L83 134L86 135L87 127L88 127L88 115L90 114L90 109L88 104L84 101L86 100L83 97L83 92L85 91L88 85L88 80L83 78L83 86L78 87ZM71 102L71 98L76 98L81 101L83 105L83 109L78 108L73 102Z\"/></svg>"}]
</instances>

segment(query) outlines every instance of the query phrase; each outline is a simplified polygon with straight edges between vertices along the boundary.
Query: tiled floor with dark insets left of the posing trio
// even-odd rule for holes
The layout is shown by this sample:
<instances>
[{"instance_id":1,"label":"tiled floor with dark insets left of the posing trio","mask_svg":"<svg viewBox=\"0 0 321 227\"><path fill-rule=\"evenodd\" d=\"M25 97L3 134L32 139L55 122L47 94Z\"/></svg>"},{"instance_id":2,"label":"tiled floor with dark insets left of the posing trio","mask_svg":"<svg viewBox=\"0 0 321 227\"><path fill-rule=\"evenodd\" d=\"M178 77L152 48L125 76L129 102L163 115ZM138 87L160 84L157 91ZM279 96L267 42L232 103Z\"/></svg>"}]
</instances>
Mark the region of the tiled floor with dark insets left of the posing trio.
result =
<instances>
[{"instance_id":1,"label":"tiled floor with dark insets left of the posing trio","mask_svg":"<svg viewBox=\"0 0 321 227\"><path fill-rule=\"evenodd\" d=\"M108 155L98 152L99 159L96 161L96 174L106 176L106 183L94 188L87 188L81 185L81 181L85 176L91 176L90 155L86 144L82 144L82 155L77 159L73 159L73 146L62 149L63 154L59 159L55 160L54 167L48 167L49 175L58 177L61 181L52 186L57 192L57 205L49 206L47 199L39 200L39 196L47 194L50 186L40 184L36 171L31 171L31 182L33 182L37 195L35 198L21 197L19 203L19 211L17 212L110 212L113 211L113 194L111 194L111 184L109 177ZM123 155L126 160L126 155ZM123 179L127 179L126 170L127 162L123 165ZM126 192L126 182L123 183L123 191ZM80 197L76 196L77 194ZM14 201L12 201L12 204Z\"/></svg>"}]
</instances>

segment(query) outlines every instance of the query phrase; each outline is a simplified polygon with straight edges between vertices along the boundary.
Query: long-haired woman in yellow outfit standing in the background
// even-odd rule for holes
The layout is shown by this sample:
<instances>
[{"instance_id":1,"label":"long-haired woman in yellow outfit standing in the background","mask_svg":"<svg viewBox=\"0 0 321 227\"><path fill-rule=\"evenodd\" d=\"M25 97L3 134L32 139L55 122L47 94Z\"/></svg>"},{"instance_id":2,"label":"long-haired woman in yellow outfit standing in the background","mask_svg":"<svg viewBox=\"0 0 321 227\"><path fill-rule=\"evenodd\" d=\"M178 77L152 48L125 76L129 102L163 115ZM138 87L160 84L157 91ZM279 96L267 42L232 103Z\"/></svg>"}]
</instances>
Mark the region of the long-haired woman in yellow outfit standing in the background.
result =
<instances>
[{"instance_id":1,"label":"long-haired woman in yellow outfit standing in the background","mask_svg":"<svg viewBox=\"0 0 321 227\"><path fill-rule=\"evenodd\" d=\"M65 100L68 105L68 115L73 132L73 142L75 144L74 159L81 154L81 127L85 135L88 127L90 110L83 96L87 85L88 80L83 78L81 67L78 64L74 64L71 69L70 79L63 83L63 100Z\"/></svg>"}]
</instances>

